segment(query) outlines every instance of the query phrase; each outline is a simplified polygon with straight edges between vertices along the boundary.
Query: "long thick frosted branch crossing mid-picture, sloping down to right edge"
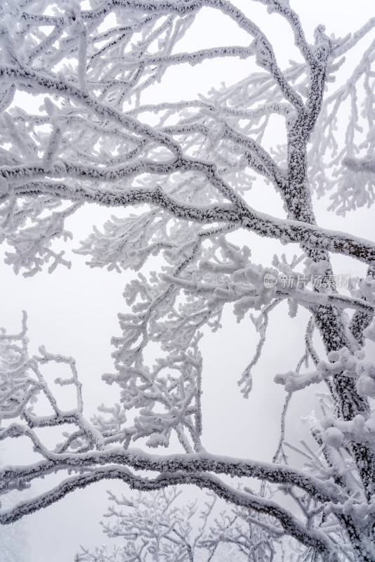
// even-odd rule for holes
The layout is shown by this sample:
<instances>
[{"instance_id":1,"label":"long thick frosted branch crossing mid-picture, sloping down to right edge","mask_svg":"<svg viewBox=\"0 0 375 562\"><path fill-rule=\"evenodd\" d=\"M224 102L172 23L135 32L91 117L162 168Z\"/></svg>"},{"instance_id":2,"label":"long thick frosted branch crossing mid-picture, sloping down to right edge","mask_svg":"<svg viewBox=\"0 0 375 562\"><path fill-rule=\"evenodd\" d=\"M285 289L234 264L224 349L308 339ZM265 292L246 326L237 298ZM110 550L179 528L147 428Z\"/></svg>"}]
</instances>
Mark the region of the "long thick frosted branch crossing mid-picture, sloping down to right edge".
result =
<instances>
[{"instance_id":1,"label":"long thick frosted branch crossing mid-picture, sloping down to right edge","mask_svg":"<svg viewBox=\"0 0 375 562\"><path fill-rule=\"evenodd\" d=\"M157 166L163 167L162 164L158 164L155 168ZM211 175L211 181L214 185L225 185L216 173ZM364 238L327 228L320 228L301 221L282 220L257 212L249 206L239 210L231 204L212 204L206 206L188 204L174 199L159 187L122 191L96 187L84 188L84 186L77 188L75 185L72 187L64 183L29 182L19 188L15 188L14 192L18 196L46 193L58 199L82 200L103 204L107 207L125 207L129 204L153 203L166 209L178 218L199 223L226 221L242 225L258 235L277 238L284 244L289 242L302 243L311 249L324 249L337 254L351 256L364 263L371 264L375 261L375 244Z\"/></svg>"}]
</instances>

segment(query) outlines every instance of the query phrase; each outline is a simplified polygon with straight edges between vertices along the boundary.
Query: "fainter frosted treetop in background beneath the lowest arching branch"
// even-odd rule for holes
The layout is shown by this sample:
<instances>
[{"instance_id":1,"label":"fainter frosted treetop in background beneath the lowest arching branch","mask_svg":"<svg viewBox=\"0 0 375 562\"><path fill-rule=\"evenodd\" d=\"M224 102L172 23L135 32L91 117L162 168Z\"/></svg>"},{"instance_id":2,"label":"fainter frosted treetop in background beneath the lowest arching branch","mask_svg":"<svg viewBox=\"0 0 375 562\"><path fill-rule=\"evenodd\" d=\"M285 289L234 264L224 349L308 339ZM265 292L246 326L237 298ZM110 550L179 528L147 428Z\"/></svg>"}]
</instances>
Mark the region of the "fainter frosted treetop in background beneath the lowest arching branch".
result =
<instances>
[{"instance_id":1,"label":"fainter frosted treetop in background beneath the lowest arching branch","mask_svg":"<svg viewBox=\"0 0 375 562\"><path fill-rule=\"evenodd\" d=\"M186 501L180 488L117 497L102 523L107 537L121 541L94 550L81 547L77 562L237 562L270 561L274 547L268 532L254 525L248 510L221 509L217 497ZM281 541L279 539L279 546Z\"/></svg>"}]
</instances>

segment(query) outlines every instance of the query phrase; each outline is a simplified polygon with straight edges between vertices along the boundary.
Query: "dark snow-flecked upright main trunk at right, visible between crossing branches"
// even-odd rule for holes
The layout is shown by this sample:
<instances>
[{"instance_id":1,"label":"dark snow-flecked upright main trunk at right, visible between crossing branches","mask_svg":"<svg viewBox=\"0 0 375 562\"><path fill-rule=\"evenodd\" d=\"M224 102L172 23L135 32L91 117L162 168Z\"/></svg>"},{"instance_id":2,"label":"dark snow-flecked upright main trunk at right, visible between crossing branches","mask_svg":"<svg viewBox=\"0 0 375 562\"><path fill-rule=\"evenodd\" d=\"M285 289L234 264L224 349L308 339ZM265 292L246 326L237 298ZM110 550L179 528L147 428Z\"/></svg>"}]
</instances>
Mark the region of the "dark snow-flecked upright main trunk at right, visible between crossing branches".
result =
<instances>
[{"instance_id":1,"label":"dark snow-flecked upright main trunk at right, visible between crossing branches","mask_svg":"<svg viewBox=\"0 0 375 562\"><path fill-rule=\"evenodd\" d=\"M296 221L303 221L316 224L312 210L310 188L307 175L307 152L306 144L309 136L310 126L306 127L308 115L300 115L288 136L288 164L289 177L288 187L284 190L284 203L287 208L288 218ZM311 123L310 123L311 125ZM311 129L310 129L311 130ZM301 244L305 253L313 259L315 263L324 261L324 275L332 275L329 254L324 250L312 250ZM318 290L318 289L315 289ZM320 289L324 290L324 289ZM334 289L335 290L335 289ZM341 311L332 306L312 306L311 312L315 319L315 324L320 331L324 347L329 353L337 351L343 347L353 348L346 334L346 326L343 322ZM370 319L368 315L360 313L352 325L357 329L358 344L360 344L360 330L365 327ZM358 414L367 419L370 414L370 407L367 398L359 396L355 388L355 381L342 374L333 377L332 384L329 386L332 399L336 408L336 415L339 419L350 421ZM364 496L370 502L374 493L375 481L375 455L374 452L362 443L350 442L350 450L355 459L358 475L362 482ZM350 490L348 490L350 492ZM355 522L349 516L342 516L341 523L348 532L350 542L357 555L357 560L362 562L374 562L371 554L366 554L365 545L371 544L371 529L358 530Z\"/></svg>"}]
</instances>

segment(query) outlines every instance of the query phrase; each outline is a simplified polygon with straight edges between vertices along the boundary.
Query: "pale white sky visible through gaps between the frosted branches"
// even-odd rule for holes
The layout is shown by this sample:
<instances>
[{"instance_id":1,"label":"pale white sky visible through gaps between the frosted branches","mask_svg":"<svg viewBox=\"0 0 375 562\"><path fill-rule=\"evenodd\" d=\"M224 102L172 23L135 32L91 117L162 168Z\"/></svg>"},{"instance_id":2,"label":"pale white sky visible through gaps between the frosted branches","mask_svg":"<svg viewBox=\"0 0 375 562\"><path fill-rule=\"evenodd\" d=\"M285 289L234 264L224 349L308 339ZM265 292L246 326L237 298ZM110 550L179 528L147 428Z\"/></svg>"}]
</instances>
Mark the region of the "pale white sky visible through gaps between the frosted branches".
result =
<instances>
[{"instance_id":1,"label":"pale white sky visible through gaps between the frosted branches","mask_svg":"<svg viewBox=\"0 0 375 562\"><path fill-rule=\"evenodd\" d=\"M249 1L237 1L244 11ZM251 17L273 37L279 63L284 66L289 58L296 58L296 49L289 41L289 30L275 15L264 17L265 8L251 4ZM327 25L327 33L343 36L357 30L373 14L370 0L291 0L291 6L300 13L308 38L318 23ZM180 50L197 50L214 45L241 44L237 28L219 16L209 18L209 11L202 11L195 27L181 42ZM231 29L232 27L232 29ZM246 39L247 42L247 39ZM197 92L206 93L212 85L221 81L230 84L248 72L248 61L220 60L196 67L173 67L166 73L162 84L152 91L154 102L181 98L195 98ZM145 103L147 99L144 99ZM276 131L275 131L276 132ZM282 136L280 136L282 138ZM275 198L264 197L264 186L259 184L251 192L251 198L259 210L281 215L281 207ZM268 190L268 194L270 190ZM328 215L326 202L317 204L317 219L321 226L347 230L356 235L371 238L374 226L369 213L360 209L357 216L345 219ZM81 211L70 221L76 246L91 230L93 223L100 226L107 213L101 207ZM254 261L261 263L264 255L272 256L285 251L274 240L260 240L254 235L242 240L251 245ZM59 267L53 275L39 274L32 278L15 276L8 266L0 265L0 325L10 332L18 332L21 311L29 316L29 339L33 351L44 344L51 353L72 355L77 360L79 377L84 383L84 400L88 412L93 412L102 401L110 401L114 390L108 388L100 376L112 372L110 337L119 334L117 312L125 310L121 294L133 272L107 272L91 270L80 256L72 256L71 270ZM338 273L363 274L362 266L348 258L334 258ZM270 261L264 263L270 265ZM362 268L362 269L361 269ZM240 325L228 312L221 332L206 334L202 342L204 353L204 445L211 451L249 458L269 459L275 450L279 434L275 432L282 407L284 391L272 383L276 372L294 367L303 353L303 329L307 313L291 320L285 308L274 315L270 322L270 334L263 350L263 358L254 370L254 400L244 400L239 393L237 380L254 352L257 336L250 322ZM286 350L284 352L284 350ZM291 364L291 358L295 358ZM54 373L55 377L55 373ZM301 393L299 402L292 405L291 414L299 418L313 407L310 392ZM223 416L223 403L230 406ZM295 419L290 416L289 419ZM295 421L293 422L295 424ZM9 446L0 450L5 464L23 462L25 450ZM27 452L29 455L29 452ZM29 457L31 458L31 457ZM106 542L101 535L98 521L107 509L105 490L124 490L121 483L100 483L80 490L59 504L27 518L31 562L72 561L79 544L93 547ZM1 532L1 530L0 530Z\"/></svg>"}]
</instances>

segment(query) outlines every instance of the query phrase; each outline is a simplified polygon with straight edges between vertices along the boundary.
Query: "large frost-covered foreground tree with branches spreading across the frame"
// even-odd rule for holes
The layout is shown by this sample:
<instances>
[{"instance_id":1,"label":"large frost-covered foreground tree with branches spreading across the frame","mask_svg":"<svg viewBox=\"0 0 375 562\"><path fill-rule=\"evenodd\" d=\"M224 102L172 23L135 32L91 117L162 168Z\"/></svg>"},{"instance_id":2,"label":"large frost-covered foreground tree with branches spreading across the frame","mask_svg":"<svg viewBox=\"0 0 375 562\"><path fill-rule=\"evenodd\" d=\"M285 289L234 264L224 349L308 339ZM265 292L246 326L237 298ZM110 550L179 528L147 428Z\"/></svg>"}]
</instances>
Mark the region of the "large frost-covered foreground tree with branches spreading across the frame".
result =
<instances>
[{"instance_id":1,"label":"large frost-covered foreground tree with branches spreading across the frame","mask_svg":"<svg viewBox=\"0 0 375 562\"><path fill-rule=\"evenodd\" d=\"M103 376L119 386L119 403L102 407L91 421L72 358L44 348L29 354L26 316L20 334L0 335L0 436L27 438L39 455L38 462L1 468L1 492L22 492L51 473L60 478L1 511L1 523L104 478L144 491L189 483L258 514L254 522L270 537L298 541L301 560L375 560L375 365L363 351L364 338L375 338L375 244L318 226L312 195L331 190L338 214L374 201L375 18L345 37L320 25L310 40L294 4L254 0L244 2L243 12L228 0L2 2L6 263L23 275L46 263L49 272L69 267L56 245L71 236L65 219L96 203L136 211L113 216L81 243L77 251L89 265L140 270L157 256L159 270L146 268L126 287L131 311L119 315L115 372ZM284 51L277 53L252 19L255 7L266 7L277 32L294 38L287 67L278 62ZM180 49L207 13L220 15L223 46L195 50L191 39L189 51ZM237 26L238 44L225 41L227 25ZM244 61L246 75L236 84L179 102L169 101L166 89L162 103L150 103L173 67L225 58ZM35 95L39 110L29 110ZM277 144L280 124L284 145ZM265 197L282 200L280 216L256 209L251 186L259 183ZM258 265L249 233L299 244L302 253ZM343 280L332 270L331 254L366 264L366 275ZM202 433L202 329L221 327L228 303L239 321L258 311L251 316L260 333L256 354L237 376L247 397L270 311L283 301L292 316L303 306L310 320L303 360L275 377L287 391L275 457L213 455ZM317 334L326 355L315 351ZM159 349L152 366L145 360L149 344ZM313 367L305 369L304 361ZM58 379L77 391L70 410L44 375L44 365L54 362L70 370ZM306 444L301 469L288 464L285 416L291 396L318 382L327 392L320 414L310 417L316 446ZM48 413L39 403L49 404ZM56 447L44 441L46 428L63 430ZM180 454L168 449L171 436ZM133 447L137 442L142 450ZM248 478L260 482L258 491L246 488Z\"/></svg>"}]
</instances>

